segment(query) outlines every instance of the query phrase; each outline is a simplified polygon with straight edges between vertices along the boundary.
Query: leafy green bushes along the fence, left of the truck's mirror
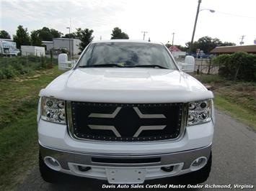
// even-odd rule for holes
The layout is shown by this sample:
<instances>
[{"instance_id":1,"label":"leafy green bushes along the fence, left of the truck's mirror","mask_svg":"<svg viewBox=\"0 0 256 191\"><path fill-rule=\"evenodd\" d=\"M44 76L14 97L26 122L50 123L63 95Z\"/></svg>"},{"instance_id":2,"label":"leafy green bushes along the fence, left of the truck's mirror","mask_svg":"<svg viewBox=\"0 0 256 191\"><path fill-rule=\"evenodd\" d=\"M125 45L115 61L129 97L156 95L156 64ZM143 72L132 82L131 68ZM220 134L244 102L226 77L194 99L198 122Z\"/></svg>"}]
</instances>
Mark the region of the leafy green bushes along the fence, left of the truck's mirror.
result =
<instances>
[{"instance_id":1,"label":"leafy green bushes along the fence, left of the truck's mirror","mask_svg":"<svg viewBox=\"0 0 256 191\"><path fill-rule=\"evenodd\" d=\"M57 59L49 57L0 57L0 79L14 78L17 75L33 73L35 70L52 68Z\"/></svg>"}]
</instances>

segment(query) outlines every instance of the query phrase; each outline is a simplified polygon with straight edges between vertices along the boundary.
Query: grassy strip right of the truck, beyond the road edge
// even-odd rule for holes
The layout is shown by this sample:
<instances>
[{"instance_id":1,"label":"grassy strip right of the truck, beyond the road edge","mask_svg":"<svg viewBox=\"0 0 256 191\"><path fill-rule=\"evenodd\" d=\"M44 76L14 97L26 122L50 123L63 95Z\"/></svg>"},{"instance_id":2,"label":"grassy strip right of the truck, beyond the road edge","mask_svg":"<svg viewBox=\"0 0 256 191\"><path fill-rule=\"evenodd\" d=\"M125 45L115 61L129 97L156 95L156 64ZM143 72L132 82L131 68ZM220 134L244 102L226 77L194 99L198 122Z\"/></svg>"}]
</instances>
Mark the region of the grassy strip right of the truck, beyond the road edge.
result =
<instances>
[{"instance_id":1,"label":"grassy strip right of the truck, beyond the road edge","mask_svg":"<svg viewBox=\"0 0 256 191\"><path fill-rule=\"evenodd\" d=\"M218 75L195 75L211 87L217 108L256 130L256 83L231 81Z\"/></svg>"}]
</instances>

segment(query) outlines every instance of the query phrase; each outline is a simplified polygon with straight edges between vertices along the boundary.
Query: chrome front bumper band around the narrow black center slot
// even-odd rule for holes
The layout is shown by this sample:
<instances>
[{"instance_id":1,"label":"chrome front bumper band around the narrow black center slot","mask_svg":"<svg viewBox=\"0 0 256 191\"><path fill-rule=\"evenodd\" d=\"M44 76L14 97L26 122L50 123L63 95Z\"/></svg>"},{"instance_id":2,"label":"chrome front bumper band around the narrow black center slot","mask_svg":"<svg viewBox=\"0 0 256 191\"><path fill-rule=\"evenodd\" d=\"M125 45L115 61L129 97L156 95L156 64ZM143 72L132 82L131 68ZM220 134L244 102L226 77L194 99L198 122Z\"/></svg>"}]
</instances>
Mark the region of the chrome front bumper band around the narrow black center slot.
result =
<instances>
[{"instance_id":1,"label":"chrome front bumper band around the narrow black center slot","mask_svg":"<svg viewBox=\"0 0 256 191\"><path fill-rule=\"evenodd\" d=\"M84 153L84 152L72 152L66 151L62 149L54 149L48 146L43 146L40 144L40 153L42 157L53 157L58 160L61 164L61 167L64 169L69 169L69 162L79 163L84 165L97 165L102 167L150 167L157 165L167 165L167 164L175 164L183 162L184 166L182 169L187 169L190 167L190 164L197 159L198 157L206 157L208 158L211 153L211 144L208 146L204 146L198 149L192 149L181 152L172 152L172 153L160 153L160 154L104 154L104 153ZM105 158L105 159L147 159L154 157L161 157L161 161L159 162L151 162L151 163L136 163L136 164L128 164L128 163L104 163L104 162L92 162L92 157Z\"/></svg>"}]
</instances>

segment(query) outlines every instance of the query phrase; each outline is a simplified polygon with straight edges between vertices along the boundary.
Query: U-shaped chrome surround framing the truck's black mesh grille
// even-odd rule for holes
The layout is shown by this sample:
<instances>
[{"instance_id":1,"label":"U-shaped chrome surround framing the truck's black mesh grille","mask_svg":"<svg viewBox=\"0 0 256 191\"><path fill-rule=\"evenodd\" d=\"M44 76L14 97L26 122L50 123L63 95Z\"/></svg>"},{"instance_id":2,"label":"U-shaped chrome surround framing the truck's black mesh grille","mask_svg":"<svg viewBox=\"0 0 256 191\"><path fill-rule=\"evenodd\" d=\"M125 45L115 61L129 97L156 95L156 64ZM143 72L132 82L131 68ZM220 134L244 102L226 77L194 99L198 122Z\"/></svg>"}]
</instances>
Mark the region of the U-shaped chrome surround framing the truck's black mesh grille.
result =
<instances>
[{"instance_id":1,"label":"U-shaped chrome surround framing the truck's black mesh grille","mask_svg":"<svg viewBox=\"0 0 256 191\"><path fill-rule=\"evenodd\" d=\"M180 134L175 139L162 139L162 140L150 140L150 141L118 141L118 144L145 144L145 143L156 143L156 142L166 142L166 141L180 141L180 139L183 138L185 134L185 128L187 124L187 109L188 109L188 103L182 103L182 120L180 125ZM71 101L66 101L66 119L67 119L67 126L69 130L69 135L74 140L80 140L80 141L93 141L98 143L116 143L117 141L104 141L104 140L97 140L97 139L83 139L80 137L77 137L74 134L74 126L72 121L72 113L71 113Z\"/></svg>"}]
</instances>

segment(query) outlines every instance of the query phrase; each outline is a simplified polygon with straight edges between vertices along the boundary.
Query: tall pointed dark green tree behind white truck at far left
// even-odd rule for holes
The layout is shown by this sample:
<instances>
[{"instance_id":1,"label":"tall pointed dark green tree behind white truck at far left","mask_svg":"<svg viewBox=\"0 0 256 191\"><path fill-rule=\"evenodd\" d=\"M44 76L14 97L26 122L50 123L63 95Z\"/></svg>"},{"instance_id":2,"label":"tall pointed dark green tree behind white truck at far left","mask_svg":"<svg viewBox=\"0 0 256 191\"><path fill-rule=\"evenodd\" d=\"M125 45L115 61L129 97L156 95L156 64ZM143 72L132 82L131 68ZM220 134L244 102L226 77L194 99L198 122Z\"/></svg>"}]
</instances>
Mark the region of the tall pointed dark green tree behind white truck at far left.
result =
<instances>
[{"instance_id":1,"label":"tall pointed dark green tree behind white truck at far left","mask_svg":"<svg viewBox=\"0 0 256 191\"><path fill-rule=\"evenodd\" d=\"M17 48L20 48L21 45L30 45L30 36L27 32L27 28L23 28L22 25L19 25L16 31L16 35L13 36L14 42L16 42Z\"/></svg>"}]
</instances>

